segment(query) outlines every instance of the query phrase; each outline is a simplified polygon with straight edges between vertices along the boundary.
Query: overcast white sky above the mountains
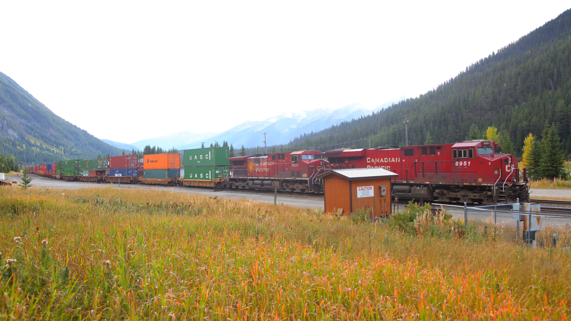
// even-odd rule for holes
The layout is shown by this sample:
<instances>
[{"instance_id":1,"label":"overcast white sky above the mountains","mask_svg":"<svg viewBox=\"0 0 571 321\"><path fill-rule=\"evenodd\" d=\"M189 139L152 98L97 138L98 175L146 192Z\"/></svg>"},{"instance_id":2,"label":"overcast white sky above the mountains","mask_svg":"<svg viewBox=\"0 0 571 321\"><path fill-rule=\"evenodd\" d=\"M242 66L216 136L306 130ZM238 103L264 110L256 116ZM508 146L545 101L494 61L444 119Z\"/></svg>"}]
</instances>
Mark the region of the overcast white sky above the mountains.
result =
<instances>
[{"instance_id":1,"label":"overcast white sky above the mountains","mask_svg":"<svg viewBox=\"0 0 571 321\"><path fill-rule=\"evenodd\" d=\"M132 143L417 97L569 7L1 1L0 71L96 137Z\"/></svg>"}]
</instances>

